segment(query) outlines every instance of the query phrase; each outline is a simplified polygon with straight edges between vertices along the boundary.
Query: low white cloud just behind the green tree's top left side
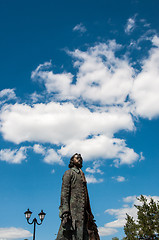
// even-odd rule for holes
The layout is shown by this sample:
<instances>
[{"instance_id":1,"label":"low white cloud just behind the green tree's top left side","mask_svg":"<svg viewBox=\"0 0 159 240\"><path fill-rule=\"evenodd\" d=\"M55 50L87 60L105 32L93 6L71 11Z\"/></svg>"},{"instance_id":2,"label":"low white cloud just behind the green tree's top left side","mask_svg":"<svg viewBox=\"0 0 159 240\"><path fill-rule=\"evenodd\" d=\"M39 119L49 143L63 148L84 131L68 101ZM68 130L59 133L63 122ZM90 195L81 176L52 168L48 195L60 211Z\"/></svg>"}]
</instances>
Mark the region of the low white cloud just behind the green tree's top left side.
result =
<instances>
[{"instance_id":1,"label":"low white cloud just behind the green tree's top left side","mask_svg":"<svg viewBox=\"0 0 159 240\"><path fill-rule=\"evenodd\" d=\"M150 201L150 198L152 197L155 201L159 200L159 196L145 196L148 201ZM126 198L123 198L123 202L127 203L126 205L123 205L122 208L119 209L107 209L105 213L108 213L116 218L116 220L106 223L104 227L101 227L102 233L104 233L104 230L107 232L110 229L116 230L116 228L121 228L125 225L125 218L126 213L131 215L135 220L137 219L137 209L134 207L135 205L140 205L141 203L137 200L136 196L128 196ZM128 205L130 204L130 205ZM100 228L99 228L100 229ZM106 234L107 235L107 234ZM101 236L106 236L101 235Z\"/></svg>"}]
</instances>

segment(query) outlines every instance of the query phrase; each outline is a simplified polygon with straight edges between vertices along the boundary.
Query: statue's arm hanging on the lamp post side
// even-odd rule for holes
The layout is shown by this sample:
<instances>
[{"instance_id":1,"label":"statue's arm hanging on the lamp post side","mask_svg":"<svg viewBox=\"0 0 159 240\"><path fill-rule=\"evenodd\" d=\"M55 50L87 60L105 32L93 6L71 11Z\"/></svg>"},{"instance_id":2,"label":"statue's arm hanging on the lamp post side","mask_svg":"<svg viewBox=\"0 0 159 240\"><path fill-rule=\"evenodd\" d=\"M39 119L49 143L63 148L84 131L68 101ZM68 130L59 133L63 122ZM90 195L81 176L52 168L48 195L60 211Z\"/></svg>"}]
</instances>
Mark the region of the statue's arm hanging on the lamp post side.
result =
<instances>
[{"instance_id":1,"label":"statue's arm hanging on the lamp post side","mask_svg":"<svg viewBox=\"0 0 159 240\"><path fill-rule=\"evenodd\" d=\"M61 189L61 204L59 207L60 218L63 218L64 214L70 213L70 188L71 188L71 171L65 172L62 178L62 189Z\"/></svg>"}]
</instances>

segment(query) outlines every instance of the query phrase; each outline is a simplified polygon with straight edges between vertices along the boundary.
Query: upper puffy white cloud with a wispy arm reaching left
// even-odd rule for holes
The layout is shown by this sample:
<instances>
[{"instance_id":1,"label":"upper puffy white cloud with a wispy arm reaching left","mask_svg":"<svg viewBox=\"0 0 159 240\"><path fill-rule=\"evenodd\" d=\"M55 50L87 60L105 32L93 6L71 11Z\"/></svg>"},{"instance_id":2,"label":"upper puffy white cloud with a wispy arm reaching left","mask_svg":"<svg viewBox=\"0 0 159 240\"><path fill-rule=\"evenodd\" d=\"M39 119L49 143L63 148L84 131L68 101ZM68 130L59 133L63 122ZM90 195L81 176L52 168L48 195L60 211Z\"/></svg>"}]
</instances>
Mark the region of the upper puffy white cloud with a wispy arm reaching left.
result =
<instances>
[{"instance_id":1,"label":"upper puffy white cloud with a wispy arm reaching left","mask_svg":"<svg viewBox=\"0 0 159 240\"><path fill-rule=\"evenodd\" d=\"M49 93L56 92L57 99L78 99L100 104L123 104L133 84L133 68L126 59L115 52L121 46L114 40L100 43L82 52L68 52L78 69L76 83L71 73L54 74L45 70L46 63L38 66L32 79L43 81ZM47 66L48 67L48 66Z\"/></svg>"}]
</instances>

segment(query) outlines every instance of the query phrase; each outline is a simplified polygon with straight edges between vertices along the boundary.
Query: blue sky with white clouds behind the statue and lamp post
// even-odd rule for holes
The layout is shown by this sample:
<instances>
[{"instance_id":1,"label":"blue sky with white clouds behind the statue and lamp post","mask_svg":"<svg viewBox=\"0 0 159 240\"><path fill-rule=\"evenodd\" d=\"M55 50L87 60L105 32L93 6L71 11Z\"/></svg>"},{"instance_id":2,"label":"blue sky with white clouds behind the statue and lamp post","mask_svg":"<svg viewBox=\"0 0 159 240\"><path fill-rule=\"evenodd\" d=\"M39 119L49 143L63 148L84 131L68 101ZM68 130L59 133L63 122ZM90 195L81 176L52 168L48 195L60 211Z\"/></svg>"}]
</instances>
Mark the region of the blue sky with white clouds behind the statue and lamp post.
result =
<instances>
[{"instance_id":1,"label":"blue sky with white clouds behind the statue and lamp post","mask_svg":"<svg viewBox=\"0 0 159 240\"><path fill-rule=\"evenodd\" d=\"M102 240L159 200L157 0L0 1L0 239L55 239L62 175L84 159Z\"/></svg>"}]
</instances>

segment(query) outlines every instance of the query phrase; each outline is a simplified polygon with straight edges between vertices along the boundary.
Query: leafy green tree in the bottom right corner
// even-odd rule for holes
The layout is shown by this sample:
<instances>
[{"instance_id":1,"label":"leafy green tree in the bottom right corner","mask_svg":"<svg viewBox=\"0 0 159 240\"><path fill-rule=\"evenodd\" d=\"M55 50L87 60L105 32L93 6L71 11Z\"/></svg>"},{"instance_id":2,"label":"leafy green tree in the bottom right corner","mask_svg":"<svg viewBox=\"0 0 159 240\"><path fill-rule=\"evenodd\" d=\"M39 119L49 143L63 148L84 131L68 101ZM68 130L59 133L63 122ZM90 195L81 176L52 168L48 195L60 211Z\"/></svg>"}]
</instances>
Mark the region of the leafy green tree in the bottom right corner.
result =
<instances>
[{"instance_id":1,"label":"leafy green tree in the bottom right corner","mask_svg":"<svg viewBox=\"0 0 159 240\"><path fill-rule=\"evenodd\" d=\"M141 202L141 205L134 205L137 208L137 221L127 214L124 239L159 239L159 202L152 198L148 202L143 195L137 199Z\"/></svg>"}]
</instances>

